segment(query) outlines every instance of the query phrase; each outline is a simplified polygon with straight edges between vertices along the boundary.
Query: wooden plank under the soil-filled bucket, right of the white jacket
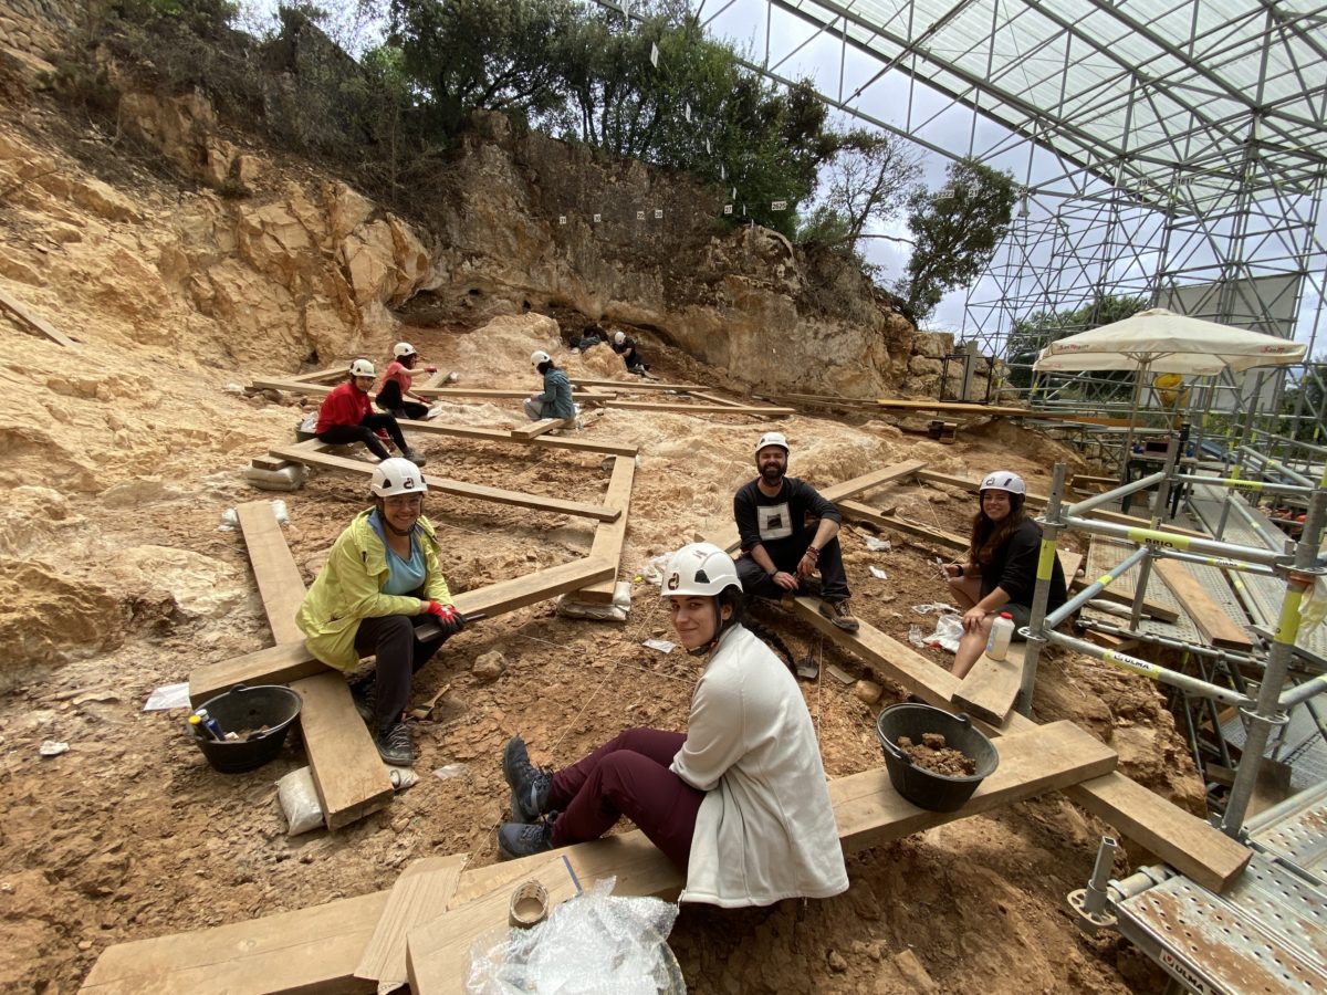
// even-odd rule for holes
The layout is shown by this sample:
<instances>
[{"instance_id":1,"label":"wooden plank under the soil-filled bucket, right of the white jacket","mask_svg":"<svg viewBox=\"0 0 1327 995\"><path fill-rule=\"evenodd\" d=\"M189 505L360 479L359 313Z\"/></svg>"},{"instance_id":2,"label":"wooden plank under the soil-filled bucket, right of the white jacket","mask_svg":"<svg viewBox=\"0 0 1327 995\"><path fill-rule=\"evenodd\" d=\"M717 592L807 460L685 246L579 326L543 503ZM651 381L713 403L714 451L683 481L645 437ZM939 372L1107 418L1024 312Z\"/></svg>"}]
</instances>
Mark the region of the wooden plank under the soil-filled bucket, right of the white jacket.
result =
<instances>
[{"instance_id":1,"label":"wooden plank under the soil-filled bucket, right of the white jacket","mask_svg":"<svg viewBox=\"0 0 1327 995\"><path fill-rule=\"evenodd\" d=\"M1100 777L1117 763L1113 750L1068 719L1002 736L995 750L999 765L957 812L917 808L894 791L882 767L831 780L829 799L844 853Z\"/></svg>"}]
</instances>

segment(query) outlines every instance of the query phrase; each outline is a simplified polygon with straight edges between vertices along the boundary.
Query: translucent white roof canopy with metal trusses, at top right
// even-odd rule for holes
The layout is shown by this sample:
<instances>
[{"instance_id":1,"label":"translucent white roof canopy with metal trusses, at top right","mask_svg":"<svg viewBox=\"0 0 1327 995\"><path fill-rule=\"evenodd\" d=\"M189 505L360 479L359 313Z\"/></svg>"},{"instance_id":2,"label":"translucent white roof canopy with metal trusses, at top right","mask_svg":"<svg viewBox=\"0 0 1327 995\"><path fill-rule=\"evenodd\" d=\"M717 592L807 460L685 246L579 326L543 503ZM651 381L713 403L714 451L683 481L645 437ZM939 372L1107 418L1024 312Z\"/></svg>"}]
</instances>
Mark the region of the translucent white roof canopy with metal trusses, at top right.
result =
<instances>
[{"instance_id":1,"label":"translucent white roof canopy with metal trusses, at top right","mask_svg":"<svg viewBox=\"0 0 1327 995\"><path fill-rule=\"evenodd\" d=\"M1327 165L1327 4L770 1L1144 203L1311 198Z\"/></svg>"}]
</instances>

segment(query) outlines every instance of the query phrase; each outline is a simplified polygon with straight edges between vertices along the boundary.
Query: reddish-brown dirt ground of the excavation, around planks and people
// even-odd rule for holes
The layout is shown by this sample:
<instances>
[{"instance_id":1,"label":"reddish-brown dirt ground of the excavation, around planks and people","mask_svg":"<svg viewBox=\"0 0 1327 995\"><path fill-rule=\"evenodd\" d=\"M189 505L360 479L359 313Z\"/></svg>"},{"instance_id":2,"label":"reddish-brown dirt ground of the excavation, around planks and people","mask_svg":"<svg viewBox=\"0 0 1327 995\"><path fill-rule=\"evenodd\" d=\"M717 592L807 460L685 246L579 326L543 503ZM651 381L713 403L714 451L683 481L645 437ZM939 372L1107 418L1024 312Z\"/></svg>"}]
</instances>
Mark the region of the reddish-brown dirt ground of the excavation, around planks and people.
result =
<instances>
[{"instance_id":1,"label":"reddish-brown dirt ground of the excavation, around planks and people","mask_svg":"<svg viewBox=\"0 0 1327 995\"><path fill-rule=\"evenodd\" d=\"M0 334L11 370L54 378L68 364L57 346L13 326L0 325ZM519 321L407 329L403 337L429 361L458 370L463 385L479 386L533 389L525 357L557 346ZM726 394L705 367L642 338L657 375ZM560 358L573 375L625 379L602 346ZM123 370L127 362L96 345L80 358L88 369ZM0 990L74 991L109 945L386 889L419 857L467 853L471 866L490 864L507 816L499 767L507 736L524 735L537 762L557 765L626 726L685 726L699 665L642 646L670 634L657 588L633 580L625 625L567 620L544 602L467 629L419 674L417 698L445 683L451 690L434 720L414 724L418 785L341 832L287 837L273 783L303 765L297 736L267 767L222 775L182 735L183 711L142 707L153 689L184 681L200 663L271 643L243 541L219 531L227 508L284 499L285 535L311 581L364 505L365 488L326 472L296 494L251 490L240 471L289 438L299 405L228 393L226 383L242 371L166 375L153 357L133 362L141 373L98 382L130 378L135 390L109 401L96 390L58 398L46 407L61 421L42 421L32 436L40 444L24 444L12 430L4 438L0 476L11 499L0 511L0 631L13 651L0 663ZM27 401L0 399L11 415L20 403ZM516 402L456 405L447 417L487 426L522 421ZM107 418L126 429L123 446L97 434ZM652 557L726 524L734 490L754 475L754 442L770 427L743 417L624 410L594 419L581 438L641 451L620 577L636 578ZM953 446L882 419L798 415L778 427L791 439L790 472L821 486L925 459L967 476L1010 467L1038 488L1064 456L1055 443L1003 425L966 429ZM459 439L418 446L430 472L462 480L583 500L608 483L589 454ZM974 508L943 486L892 486L867 500L959 532ZM441 496L430 496L426 513L439 527L458 590L583 556L591 543L588 525L556 515ZM933 618L912 606L945 596L933 551L882 536L893 548L873 553L868 535L843 531L857 613L900 639L914 625L929 631ZM802 686L828 773L882 763L874 714L906 691L780 610L764 608L759 617L821 663L820 678ZM507 667L484 682L471 665L492 650ZM943 650L921 651L947 666ZM828 665L881 681L884 699L864 704ZM1055 654L1043 675L1039 718L1079 720L1121 752L1127 772L1181 804L1201 804L1173 722L1145 681ZM44 740L69 751L44 759ZM860 853L849 861L851 890L831 901L685 907L670 942L698 992L922 991L916 964L934 991L1157 990L1161 978L1144 958L1112 937L1085 939L1064 905L1064 894L1084 884L1104 829L1051 795ZM1125 870L1123 857L1116 870Z\"/></svg>"}]
</instances>

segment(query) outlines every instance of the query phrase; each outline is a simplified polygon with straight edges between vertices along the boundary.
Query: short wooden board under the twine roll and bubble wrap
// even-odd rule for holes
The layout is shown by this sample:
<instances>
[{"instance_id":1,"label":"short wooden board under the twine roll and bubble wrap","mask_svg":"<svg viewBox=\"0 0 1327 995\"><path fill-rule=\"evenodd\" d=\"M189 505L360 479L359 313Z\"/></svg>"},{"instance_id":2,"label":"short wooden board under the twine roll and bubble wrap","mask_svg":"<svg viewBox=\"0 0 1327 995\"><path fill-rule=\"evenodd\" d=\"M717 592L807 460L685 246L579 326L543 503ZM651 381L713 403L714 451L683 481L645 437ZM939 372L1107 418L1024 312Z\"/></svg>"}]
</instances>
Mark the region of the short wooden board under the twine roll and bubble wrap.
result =
<instances>
[{"instance_id":1,"label":"short wooden board under the twine roll and bubble wrap","mask_svg":"<svg viewBox=\"0 0 1327 995\"><path fill-rule=\"evenodd\" d=\"M580 893L576 874L561 853L545 854L539 869L523 880L544 886L549 910ZM507 925L514 890L512 885L494 888L406 934L407 974L414 995L455 995L464 990L470 947L484 933Z\"/></svg>"}]
</instances>

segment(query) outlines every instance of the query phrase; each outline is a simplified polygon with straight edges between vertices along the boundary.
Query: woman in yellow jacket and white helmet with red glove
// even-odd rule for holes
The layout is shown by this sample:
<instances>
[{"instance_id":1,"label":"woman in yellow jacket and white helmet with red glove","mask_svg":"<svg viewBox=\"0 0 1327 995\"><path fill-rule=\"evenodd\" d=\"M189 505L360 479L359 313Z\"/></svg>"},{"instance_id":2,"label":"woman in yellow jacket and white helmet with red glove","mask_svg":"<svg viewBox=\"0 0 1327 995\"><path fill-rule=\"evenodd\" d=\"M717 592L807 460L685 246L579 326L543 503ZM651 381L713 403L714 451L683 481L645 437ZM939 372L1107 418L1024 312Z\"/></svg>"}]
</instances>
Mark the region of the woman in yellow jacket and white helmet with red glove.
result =
<instances>
[{"instance_id":1,"label":"woman in yellow jacket and white helmet with red glove","mask_svg":"<svg viewBox=\"0 0 1327 995\"><path fill-rule=\"evenodd\" d=\"M405 724L410 687L447 637L460 631L438 539L423 516L429 492L419 467L385 459L373 471L373 507L361 511L332 547L295 617L309 653L344 673L373 657L373 678L353 689L356 707L389 764L409 767L415 754ZM442 638L423 642L417 628L437 621Z\"/></svg>"}]
</instances>

